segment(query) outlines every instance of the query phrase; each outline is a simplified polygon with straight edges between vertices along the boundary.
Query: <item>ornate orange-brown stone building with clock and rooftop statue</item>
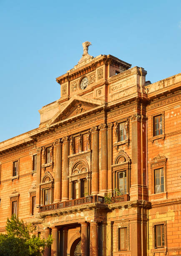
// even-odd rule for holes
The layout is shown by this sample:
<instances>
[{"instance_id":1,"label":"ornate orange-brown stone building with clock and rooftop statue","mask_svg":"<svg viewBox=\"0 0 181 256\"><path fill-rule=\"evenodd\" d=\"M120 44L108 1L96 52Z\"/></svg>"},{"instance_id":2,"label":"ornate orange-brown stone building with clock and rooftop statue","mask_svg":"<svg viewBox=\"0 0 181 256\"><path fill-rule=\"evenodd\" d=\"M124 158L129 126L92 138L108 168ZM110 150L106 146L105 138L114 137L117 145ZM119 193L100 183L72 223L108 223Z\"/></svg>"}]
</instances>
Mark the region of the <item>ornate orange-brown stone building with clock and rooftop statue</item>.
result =
<instances>
[{"instance_id":1,"label":"ornate orange-brown stone building with clock and rooftop statue","mask_svg":"<svg viewBox=\"0 0 181 256\"><path fill-rule=\"evenodd\" d=\"M151 84L89 45L39 127L0 143L0 232L16 214L46 256L181 255L181 74Z\"/></svg>"}]
</instances>

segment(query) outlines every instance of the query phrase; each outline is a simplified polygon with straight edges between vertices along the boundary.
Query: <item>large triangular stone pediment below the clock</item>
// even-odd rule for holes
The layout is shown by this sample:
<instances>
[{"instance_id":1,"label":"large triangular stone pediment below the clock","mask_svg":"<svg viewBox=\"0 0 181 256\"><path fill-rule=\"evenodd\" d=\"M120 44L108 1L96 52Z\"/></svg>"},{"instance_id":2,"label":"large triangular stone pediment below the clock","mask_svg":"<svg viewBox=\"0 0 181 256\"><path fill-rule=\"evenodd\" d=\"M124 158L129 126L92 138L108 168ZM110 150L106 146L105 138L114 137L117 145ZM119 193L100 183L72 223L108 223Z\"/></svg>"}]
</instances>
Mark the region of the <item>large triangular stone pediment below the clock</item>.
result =
<instances>
[{"instance_id":1,"label":"large triangular stone pediment below the clock","mask_svg":"<svg viewBox=\"0 0 181 256\"><path fill-rule=\"evenodd\" d=\"M91 110L103 104L104 102L102 100L90 100L76 95L71 97L70 100L63 104L58 113L56 113L53 118L50 119L49 125L70 117L81 115L85 111Z\"/></svg>"}]
</instances>

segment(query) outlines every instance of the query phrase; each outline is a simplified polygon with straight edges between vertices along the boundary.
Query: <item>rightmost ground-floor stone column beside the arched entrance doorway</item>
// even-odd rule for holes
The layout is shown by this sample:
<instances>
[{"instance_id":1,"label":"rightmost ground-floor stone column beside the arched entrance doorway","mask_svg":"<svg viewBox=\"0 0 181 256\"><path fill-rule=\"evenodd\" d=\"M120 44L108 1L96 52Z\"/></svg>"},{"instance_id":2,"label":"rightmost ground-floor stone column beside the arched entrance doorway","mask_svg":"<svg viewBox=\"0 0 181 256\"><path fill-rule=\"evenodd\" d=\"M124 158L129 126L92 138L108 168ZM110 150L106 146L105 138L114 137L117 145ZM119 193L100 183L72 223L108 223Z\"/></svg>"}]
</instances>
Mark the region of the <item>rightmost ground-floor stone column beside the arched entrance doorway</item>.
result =
<instances>
[{"instance_id":1,"label":"rightmost ground-floor stone column beside the arched entrance doorway","mask_svg":"<svg viewBox=\"0 0 181 256\"><path fill-rule=\"evenodd\" d=\"M90 223L90 256L98 256L98 223Z\"/></svg>"}]
</instances>

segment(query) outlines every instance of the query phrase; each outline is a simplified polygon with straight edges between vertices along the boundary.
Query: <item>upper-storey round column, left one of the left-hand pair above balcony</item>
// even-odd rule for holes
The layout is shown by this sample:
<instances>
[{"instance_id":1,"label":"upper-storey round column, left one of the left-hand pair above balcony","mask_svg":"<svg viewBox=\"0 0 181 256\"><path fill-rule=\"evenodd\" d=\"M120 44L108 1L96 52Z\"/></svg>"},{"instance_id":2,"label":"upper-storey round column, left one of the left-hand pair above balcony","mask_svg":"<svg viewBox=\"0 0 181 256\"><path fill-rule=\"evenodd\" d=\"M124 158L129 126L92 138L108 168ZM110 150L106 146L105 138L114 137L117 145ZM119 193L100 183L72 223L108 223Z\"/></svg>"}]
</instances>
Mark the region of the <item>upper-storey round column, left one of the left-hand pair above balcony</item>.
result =
<instances>
[{"instance_id":1,"label":"upper-storey round column, left one of the left-hand pair above balcony","mask_svg":"<svg viewBox=\"0 0 181 256\"><path fill-rule=\"evenodd\" d=\"M61 201L61 172L62 172L62 143L60 139L54 141L55 148L55 195L54 202Z\"/></svg>"}]
</instances>

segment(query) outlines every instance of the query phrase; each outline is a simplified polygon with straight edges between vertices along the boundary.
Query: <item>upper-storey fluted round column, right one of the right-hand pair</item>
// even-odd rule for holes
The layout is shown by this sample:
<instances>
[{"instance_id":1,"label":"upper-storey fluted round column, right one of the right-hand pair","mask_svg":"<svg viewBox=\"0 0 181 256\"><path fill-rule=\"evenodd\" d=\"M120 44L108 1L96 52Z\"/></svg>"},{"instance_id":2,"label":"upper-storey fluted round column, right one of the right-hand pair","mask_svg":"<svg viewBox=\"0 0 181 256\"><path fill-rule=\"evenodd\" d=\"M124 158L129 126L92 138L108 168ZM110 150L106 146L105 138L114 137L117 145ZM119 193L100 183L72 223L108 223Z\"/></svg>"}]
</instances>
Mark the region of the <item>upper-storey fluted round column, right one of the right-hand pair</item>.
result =
<instances>
[{"instance_id":1,"label":"upper-storey fluted round column, right one of the right-hand pair","mask_svg":"<svg viewBox=\"0 0 181 256\"><path fill-rule=\"evenodd\" d=\"M101 131L101 191L105 194L108 189L108 144L107 144L107 124L99 125Z\"/></svg>"}]
</instances>

